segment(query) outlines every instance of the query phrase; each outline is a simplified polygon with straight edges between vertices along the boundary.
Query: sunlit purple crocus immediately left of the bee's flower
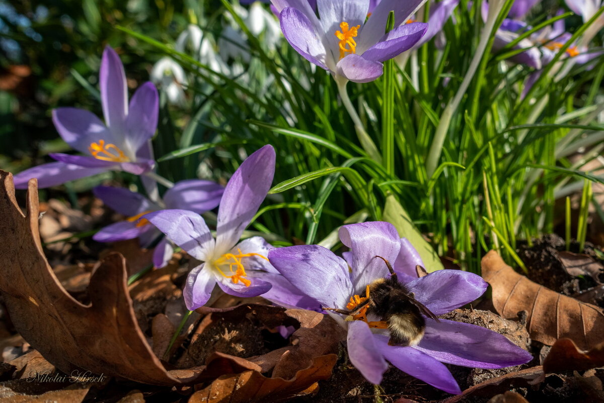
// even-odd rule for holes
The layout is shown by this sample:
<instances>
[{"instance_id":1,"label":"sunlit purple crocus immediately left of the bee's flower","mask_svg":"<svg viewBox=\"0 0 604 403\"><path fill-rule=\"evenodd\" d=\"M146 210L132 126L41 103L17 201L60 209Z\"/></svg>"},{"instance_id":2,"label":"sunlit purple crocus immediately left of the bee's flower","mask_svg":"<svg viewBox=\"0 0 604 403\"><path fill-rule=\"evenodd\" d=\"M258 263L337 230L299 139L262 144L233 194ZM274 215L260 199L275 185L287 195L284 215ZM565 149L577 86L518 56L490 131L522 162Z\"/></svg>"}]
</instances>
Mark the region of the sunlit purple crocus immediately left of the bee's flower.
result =
<instances>
[{"instance_id":1,"label":"sunlit purple crocus immediately left of the bee's flower","mask_svg":"<svg viewBox=\"0 0 604 403\"><path fill-rule=\"evenodd\" d=\"M203 306L216 283L224 292L255 297L271 289L262 279L272 268L271 248L262 237L239 239L262 204L275 173L275 150L264 146L250 155L226 184L218 209L216 239L201 216L188 210L161 210L143 216L195 259L183 291L191 311Z\"/></svg>"}]
</instances>

